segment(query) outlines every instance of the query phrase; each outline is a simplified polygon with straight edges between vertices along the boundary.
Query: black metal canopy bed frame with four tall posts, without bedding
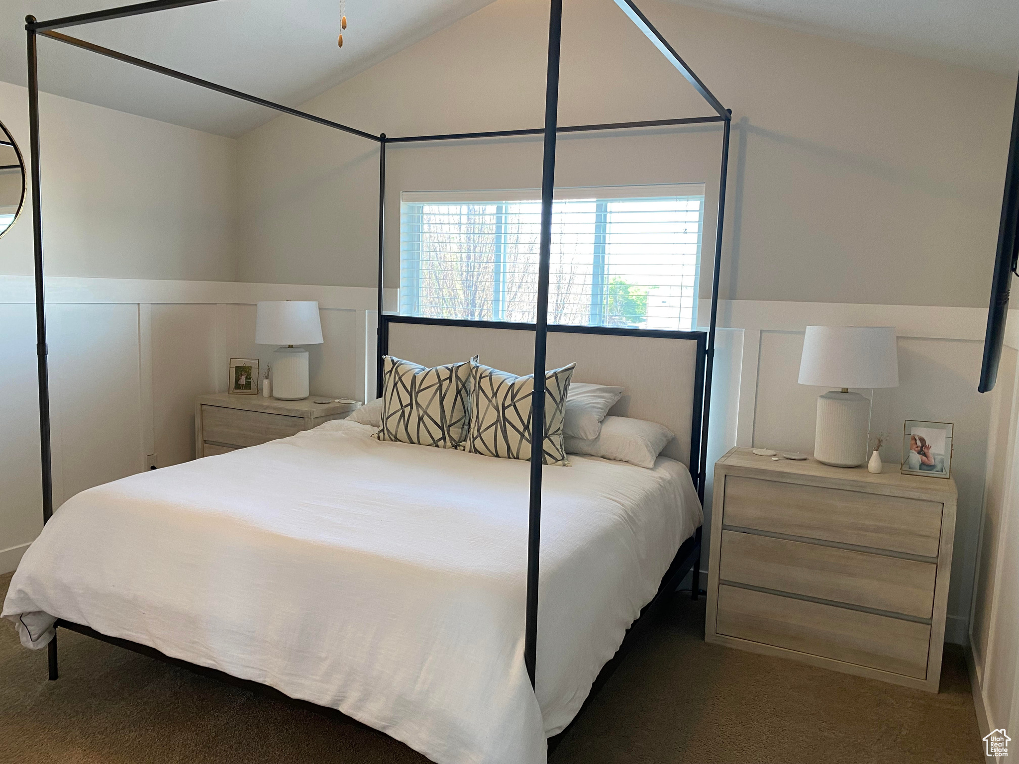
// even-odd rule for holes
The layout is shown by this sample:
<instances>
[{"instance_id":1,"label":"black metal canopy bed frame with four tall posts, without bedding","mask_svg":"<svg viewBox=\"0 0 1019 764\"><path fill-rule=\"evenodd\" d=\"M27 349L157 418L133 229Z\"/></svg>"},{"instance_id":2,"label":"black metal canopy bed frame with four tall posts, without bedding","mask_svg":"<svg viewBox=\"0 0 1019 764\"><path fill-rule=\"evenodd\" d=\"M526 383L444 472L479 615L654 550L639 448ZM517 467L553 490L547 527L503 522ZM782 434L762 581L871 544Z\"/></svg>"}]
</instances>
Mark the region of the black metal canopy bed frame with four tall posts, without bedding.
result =
<instances>
[{"instance_id":1,"label":"black metal canopy bed frame with four tall posts, without bedding","mask_svg":"<svg viewBox=\"0 0 1019 764\"><path fill-rule=\"evenodd\" d=\"M545 361L547 333L549 331L574 331L594 334L620 334L635 336L671 336L678 339L695 340L697 342L697 364L695 370L695 390L694 404L692 413L691 442L690 442L690 473L697 486L698 497L703 502L704 484L706 479L707 459L707 434L709 412L711 403L711 379L714 360L715 327L718 307L718 281L721 262L722 230L725 226L726 213L726 184L729 167L729 146L730 132L732 127L732 111L726 109L721 103L711 94L701 79L679 56L676 50L665 41L661 34L647 19L641 10L634 4L633 0L614 0L615 4L633 21L634 24L647 37L647 39L662 53L665 59L694 87L694 89L707 102L715 112L710 116L688 117L678 119L654 119L631 122L612 122L602 124L583 124L560 126L557 121L558 111L558 85L559 85L559 45L562 25L562 0L550 0L550 17L548 33L548 61L545 84L545 123L543 127L533 129L511 129L511 130L488 130L480 132L460 132L432 135L406 135L391 138L386 133L375 135L364 130L340 124L323 117L308 114L287 106L273 103L257 96L252 96L240 91L226 88L215 83L201 79L190 74L185 74L174 69L160 66L150 61L145 61L133 56L128 56L118 51L110 50L99 45L95 45L84 40L79 40L61 34L56 30L68 26L76 26L97 21L105 21L114 18L153 13L171 8L180 8L190 5L199 5L215 0L153 0L152 2L125 5L109 10L93 11L81 13L48 21L38 21L35 16L25 17L25 31L28 35L28 67L29 67L29 120L30 120L30 157L32 176L32 206L33 206L33 236L35 244L35 284L36 284L36 326L37 326L37 357L39 376L39 413L40 413L40 441L41 441L41 468L43 484L43 522L47 523L53 513L53 484L51 469L51 440L50 440L50 395L49 395L49 372L47 365L47 342L46 342L46 308L45 308L45 282L43 263L43 226L42 226L42 178L41 178L41 148L39 138L39 75L37 62L37 40L40 36L56 40L67 45L74 46L87 51L92 51L109 58L122 61L124 63L139 66L150 71L154 71L175 79L180 79L192 85L215 91L233 98L237 98L250 103L264 106L275 111L289 114L294 117L307 119L312 122L331 127L336 130L358 135L367 141L378 144L379 147L379 205L378 205L378 341L377 341L377 387L378 394L382 391L382 364L381 359L387 349L388 327L391 323L429 323L437 326L473 326L480 328L505 328L525 329L534 332L534 393L531 398L533 427L532 442L541 442L544 436L544 385L545 385ZM558 327L548 325L548 291L549 291L549 270L551 253L551 226L552 226L552 200L554 192L555 175L555 148L558 133L567 132L597 132L604 130L625 130L640 128L661 128L672 126L682 126L691 124L720 123L721 130L721 169L718 181L718 213L715 222L715 248L714 263L711 275L711 311L710 323L707 331L653 331L609 327ZM385 237L385 166L386 147L389 144L423 144L440 141L471 141L475 139L501 139L517 138L527 135L543 137L543 159L542 159L542 179L541 179L541 228L539 238L539 260L538 260L538 289L537 289L537 310L533 324L516 324L504 322L486 321L460 321L446 319L421 318L411 316L388 315L383 312L383 266L384 266L384 237ZM695 295L696 298L696 295ZM535 658L537 651L537 617L538 617L538 560L540 549L541 531L541 478L542 478L542 449L536 448L532 452L530 463L530 500L529 500L529 525L528 525L528 554L527 554L527 605L525 621L525 646L524 661L531 679L531 685L535 683ZM700 569L700 548L701 529L698 528L696 534L687 539L678 550L668 570L662 577L661 584L655 597L641 611L640 616L631 625L626 634L620 650L615 656L606 663L599 672L587 702L578 712L577 716L583 712L590 700L604 685L611 675L615 666L623 659L632 646L638 634L648 625L651 616L660 605L667 600L672 593L679 586L680 581L688 574L692 572L693 586L692 597L697 598L699 590L699 569ZM141 645L126 640L109 637L100 634L95 630L73 623L66 620L58 620L57 626L77 632L79 634L93 637L95 639L117 645L119 647L132 650L135 652L158 658L173 665L181 666L200 674L214 676L234 686L267 695L277 700L293 703L300 706L312 708L316 711L328 715L343 716L336 709L317 706L306 701L299 701L278 690L260 685L248 679L240 679L222 671L199 666L186 661L169 657L163 653L146 645ZM49 678L56 679L57 671L57 641L54 636L48 645ZM575 717L576 720L576 717ZM573 725L571 722L558 734L548 739L549 753L555 749L562 736Z\"/></svg>"}]
</instances>

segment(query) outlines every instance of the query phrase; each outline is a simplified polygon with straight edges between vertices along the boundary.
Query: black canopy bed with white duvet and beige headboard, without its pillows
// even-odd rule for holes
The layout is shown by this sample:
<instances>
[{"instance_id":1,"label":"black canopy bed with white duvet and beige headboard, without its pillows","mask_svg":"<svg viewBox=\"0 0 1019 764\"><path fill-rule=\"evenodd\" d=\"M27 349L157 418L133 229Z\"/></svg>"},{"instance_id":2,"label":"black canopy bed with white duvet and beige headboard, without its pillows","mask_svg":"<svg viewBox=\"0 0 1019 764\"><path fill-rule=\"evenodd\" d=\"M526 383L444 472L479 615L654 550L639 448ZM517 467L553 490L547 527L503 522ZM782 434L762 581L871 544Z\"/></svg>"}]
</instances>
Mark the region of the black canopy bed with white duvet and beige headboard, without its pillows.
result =
<instances>
[{"instance_id":1,"label":"black canopy bed with white duvet and beige headboard, without its pillows","mask_svg":"<svg viewBox=\"0 0 1019 764\"><path fill-rule=\"evenodd\" d=\"M732 112L633 0L615 1L711 115L559 125L561 0L549 3L544 126L484 132L376 135L57 32L209 1L25 18L46 526L3 614L30 646L48 648L51 679L52 630L65 627L340 709L439 762L544 760L684 572L693 570L697 593ZM537 380L576 362L575 380L627 388L609 414L663 425L675 440L650 470L586 457L553 470L537 449L529 466L378 443L363 426L333 423L90 489L54 513L39 37L376 144L379 356L431 365L478 352ZM549 326L557 134L712 123L721 164L708 330ZM543 141L535 323L383 315L386 147L527 135Z\"/></svg>"}]
</instances>

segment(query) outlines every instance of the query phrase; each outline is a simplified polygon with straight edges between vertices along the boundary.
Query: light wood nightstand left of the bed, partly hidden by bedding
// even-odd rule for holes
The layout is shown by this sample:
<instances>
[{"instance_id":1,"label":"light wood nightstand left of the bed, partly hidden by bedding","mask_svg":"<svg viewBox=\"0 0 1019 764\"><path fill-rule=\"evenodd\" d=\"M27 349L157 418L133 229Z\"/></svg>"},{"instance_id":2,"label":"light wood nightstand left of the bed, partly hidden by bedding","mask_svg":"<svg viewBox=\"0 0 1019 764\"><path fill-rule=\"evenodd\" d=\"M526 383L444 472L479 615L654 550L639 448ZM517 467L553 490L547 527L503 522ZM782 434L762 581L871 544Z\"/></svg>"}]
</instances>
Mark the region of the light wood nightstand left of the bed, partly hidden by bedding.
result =
<instances>
[{"instance_id":1,"label":"light wood nightstand left of the bed, partly hidden by bedding","mask_svg":"<svg viewBox=\"0 0 1019 764\"><path fill-rule=\"evenodd\" d=\"M195 457L286 438L323 422L345 419L358 407L357 403L316 403L317 397L276 400L226 392L200 395L195 403Z\"/></svg>"}]
</instances>

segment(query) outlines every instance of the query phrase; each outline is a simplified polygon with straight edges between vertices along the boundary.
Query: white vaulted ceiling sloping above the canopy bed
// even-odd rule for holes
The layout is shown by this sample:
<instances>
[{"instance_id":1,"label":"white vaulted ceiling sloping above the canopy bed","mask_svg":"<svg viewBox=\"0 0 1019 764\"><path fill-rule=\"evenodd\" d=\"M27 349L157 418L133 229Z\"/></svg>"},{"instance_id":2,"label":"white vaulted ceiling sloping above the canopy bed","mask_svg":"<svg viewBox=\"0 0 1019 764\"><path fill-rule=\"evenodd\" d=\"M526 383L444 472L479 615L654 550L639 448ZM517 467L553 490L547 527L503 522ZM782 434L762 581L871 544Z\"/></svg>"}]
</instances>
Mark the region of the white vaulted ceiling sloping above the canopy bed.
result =
<instances>
[{"instance_id":1,"label":"white vaulted ceiling sloping above the canopy bed","mask_svg":"<svg viewBox=\"0 0 1019 764\"><path fill-rule=\"evenodd\" d=\"M0 80L25 84L23 18L125 0L4 0ZM668 0L811 34L1015 76L1016 0ZM190 74L298 106L492 0L219 0L64 32ZM723 41L720 41L723 43ZM42 90L223 135L274 114L125 64L40 41Z\"/></svg>"}]
</instances>

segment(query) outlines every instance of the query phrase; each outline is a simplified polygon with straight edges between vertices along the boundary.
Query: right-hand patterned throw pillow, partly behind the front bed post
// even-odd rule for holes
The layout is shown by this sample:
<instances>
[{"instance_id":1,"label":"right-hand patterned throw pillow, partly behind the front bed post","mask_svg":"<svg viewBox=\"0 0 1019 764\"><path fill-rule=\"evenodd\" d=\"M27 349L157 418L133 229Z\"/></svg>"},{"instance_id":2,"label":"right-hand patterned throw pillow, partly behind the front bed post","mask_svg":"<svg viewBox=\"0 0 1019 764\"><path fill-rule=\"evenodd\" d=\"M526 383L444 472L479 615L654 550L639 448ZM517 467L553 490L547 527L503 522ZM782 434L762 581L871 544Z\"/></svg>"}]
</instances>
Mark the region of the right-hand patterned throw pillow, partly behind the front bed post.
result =
<instances>
[{"instance_id":1,"label":"right-hand patterned throw pillow, partly behind the front bed post","mask_svg":"<svg viewBox=\"0 0 1019 764\"><path fill-rule=\"evenodd\" d=\"M545 372L543 463L567 466L562 419L575 364ZM534 375L518 377L471 360L471 425L464 449L509 459L531 458Z\"/></svg>"}]
</instances>

